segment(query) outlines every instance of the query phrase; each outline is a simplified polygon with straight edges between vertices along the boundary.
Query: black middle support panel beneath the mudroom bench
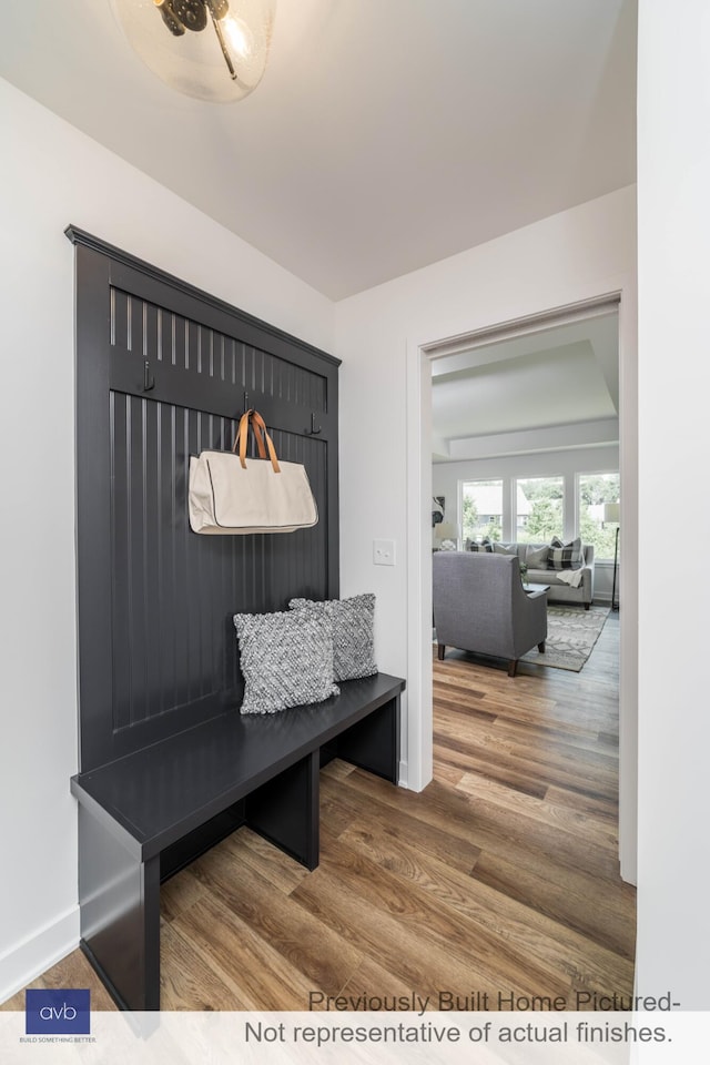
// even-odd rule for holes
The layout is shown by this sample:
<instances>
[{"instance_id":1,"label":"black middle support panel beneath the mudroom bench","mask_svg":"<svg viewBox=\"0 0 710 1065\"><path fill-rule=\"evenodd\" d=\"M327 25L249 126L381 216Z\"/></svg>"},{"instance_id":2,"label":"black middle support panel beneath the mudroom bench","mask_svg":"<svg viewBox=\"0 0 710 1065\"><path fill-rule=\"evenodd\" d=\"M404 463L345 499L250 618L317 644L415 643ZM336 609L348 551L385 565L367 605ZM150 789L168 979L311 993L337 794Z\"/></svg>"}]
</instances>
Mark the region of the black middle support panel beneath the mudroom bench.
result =
<instances>
[{"instance_id":1,"label":"black middle support panel beneath the mudroom bench","mask_svg":"<svg viewBox=\"0 0 710 1065\"><path fill-rule=\"evenodd\" d=\"M318 864L320 771L320 754L314 751L246 799L250 829L306 869Z\"/></svg>"}]
</instances>

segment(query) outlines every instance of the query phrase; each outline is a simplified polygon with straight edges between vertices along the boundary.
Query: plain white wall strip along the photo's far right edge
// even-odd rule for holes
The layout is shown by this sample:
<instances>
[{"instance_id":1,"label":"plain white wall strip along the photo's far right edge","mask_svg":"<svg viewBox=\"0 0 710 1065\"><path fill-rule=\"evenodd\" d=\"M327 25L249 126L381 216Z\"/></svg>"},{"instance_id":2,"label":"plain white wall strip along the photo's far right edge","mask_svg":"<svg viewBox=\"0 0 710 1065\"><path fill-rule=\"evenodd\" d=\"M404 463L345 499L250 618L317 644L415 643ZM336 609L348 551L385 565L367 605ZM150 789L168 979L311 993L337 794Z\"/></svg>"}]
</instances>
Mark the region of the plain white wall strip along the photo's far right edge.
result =
<instances>
[{"instance_id":1,"label":"plain white wall strip along the photo's far right edge","mask_svg":"<svg viewBox=\"0 0 710 1065\"><path fill-rule=\"evenodd\" d=\"M659 485L684 542L707 537L710 8L639 4L639 570ZM701 570L639 594L638 985L710 1008L708 625ZM672 658L672 661L669 660ZM707 1042L707 1034L706 1034Z\"/></svg>"}]
</instances>

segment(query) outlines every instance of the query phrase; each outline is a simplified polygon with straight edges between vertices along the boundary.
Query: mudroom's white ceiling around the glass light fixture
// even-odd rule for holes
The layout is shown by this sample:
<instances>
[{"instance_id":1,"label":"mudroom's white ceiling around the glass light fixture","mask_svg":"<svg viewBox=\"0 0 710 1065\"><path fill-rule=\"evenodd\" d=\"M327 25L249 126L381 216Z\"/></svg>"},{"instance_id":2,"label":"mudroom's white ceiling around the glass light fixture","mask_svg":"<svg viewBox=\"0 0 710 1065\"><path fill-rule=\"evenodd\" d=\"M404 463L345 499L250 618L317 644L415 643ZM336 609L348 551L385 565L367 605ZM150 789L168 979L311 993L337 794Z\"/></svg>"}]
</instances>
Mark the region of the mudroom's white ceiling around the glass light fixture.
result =
<instances>
[{"instance_id":1,"label":"mudroom's white ceiling around the glass light fixture","mask_svg":"<svg viewBox=\"0 0 710 1065\"><path fill-rule=\"evenodd\" d=\"M215 105L110 0L6 0L0 74L339 300L633 182L635 52L635 0L278 0L261 85Z\"/></svg>"}]
</instances>

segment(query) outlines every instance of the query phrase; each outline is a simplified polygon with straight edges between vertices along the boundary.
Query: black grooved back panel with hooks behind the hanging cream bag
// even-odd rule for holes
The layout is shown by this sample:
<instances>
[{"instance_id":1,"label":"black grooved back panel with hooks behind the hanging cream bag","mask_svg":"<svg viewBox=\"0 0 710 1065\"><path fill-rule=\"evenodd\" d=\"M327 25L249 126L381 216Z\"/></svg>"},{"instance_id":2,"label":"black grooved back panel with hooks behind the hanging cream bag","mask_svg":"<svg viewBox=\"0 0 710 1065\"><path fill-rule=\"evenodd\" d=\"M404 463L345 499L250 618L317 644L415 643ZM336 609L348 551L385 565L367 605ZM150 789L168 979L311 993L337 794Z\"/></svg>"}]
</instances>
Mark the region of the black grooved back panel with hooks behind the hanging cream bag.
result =
<instances>
[{"instance_id":1,"label":"black grooved back panel with hooks behind the hanging cream bag","mask_svg":"<svg viewBox=\"0 0 710 1065\"><path fill-rule=\"evenodd\" d=\"M300 342L290 362L284 335L278 355L241 339L239 312L227 322L220 308L215 328L194 318L194 301L192 316L181 314L169 286L161 305L154 281L152 298L140 286L111 287L109 261L81 248L78 263L83 256L93 270L90 281L83 271L89 301L78 291L78 318L84 303L90 307L87 323L78 321L77 364L78 426L82 418L89 423L78 429L88 771L239 706L243 682L233 613L283 610L294 596L337 594L336 490L335 506L331 498L336 417L326 417L321 436L308 435L311 412L327 416L337 392L333 361L306 355L311 362L300 365ZM250 329L253 337L253 323ZM141 390L143 359L155 378L148 393ZM191 405L195 392L200 404L193 395ZM320 513L314 529L234 537L190 530L190 455L232 446L244 392L262 409L281 457L305 464Z\"/></svg>"}]
</instances>

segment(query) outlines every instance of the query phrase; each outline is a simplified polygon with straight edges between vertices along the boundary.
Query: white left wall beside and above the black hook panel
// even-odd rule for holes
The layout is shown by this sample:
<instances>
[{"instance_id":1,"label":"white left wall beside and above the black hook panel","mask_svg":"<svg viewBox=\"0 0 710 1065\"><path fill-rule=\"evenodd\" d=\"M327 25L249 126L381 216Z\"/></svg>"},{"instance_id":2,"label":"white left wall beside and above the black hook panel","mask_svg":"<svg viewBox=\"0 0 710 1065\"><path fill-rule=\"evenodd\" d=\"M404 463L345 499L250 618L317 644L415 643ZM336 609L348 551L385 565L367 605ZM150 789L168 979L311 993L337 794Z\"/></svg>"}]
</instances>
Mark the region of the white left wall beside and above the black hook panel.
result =
<instances>
[{"instance_id":1,"label":"white left wall beside and above the black hook panel","mask_svg":"<svg viewBox=\"0 0 710 1065\"><path fill-rule=\"evenodd\" d=\"M74 223L325 349L334 332L329 301L1 81L0 126L2 1001L79 933L74 252L63 230Z\"/></svg>"}]
</instances>

